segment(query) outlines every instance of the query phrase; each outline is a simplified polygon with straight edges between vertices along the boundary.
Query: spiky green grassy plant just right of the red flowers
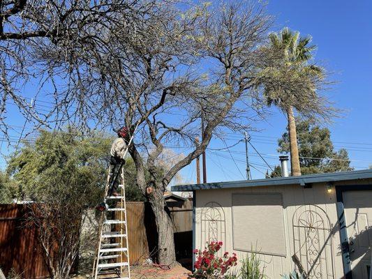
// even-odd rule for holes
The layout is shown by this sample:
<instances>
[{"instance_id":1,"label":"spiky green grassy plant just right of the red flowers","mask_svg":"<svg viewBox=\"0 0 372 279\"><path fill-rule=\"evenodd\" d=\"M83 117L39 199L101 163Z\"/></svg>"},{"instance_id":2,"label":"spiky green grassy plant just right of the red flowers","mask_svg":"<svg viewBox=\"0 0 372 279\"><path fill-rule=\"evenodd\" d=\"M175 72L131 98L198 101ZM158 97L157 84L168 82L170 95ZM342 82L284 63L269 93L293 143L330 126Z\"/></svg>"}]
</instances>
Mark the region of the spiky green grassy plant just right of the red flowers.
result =
<instances>
[{"instance_id":1,"label":"spiky green grassy plant just right of the red flowers","mask_svg":"<svg viewBox=\"0 0 372 279\"><path fill-rule=\"evenodd\" d=\"M241 261L239 278L241 279L264 279L265 266L256 252L251 252Z\"/></svg>"}]
</instances>

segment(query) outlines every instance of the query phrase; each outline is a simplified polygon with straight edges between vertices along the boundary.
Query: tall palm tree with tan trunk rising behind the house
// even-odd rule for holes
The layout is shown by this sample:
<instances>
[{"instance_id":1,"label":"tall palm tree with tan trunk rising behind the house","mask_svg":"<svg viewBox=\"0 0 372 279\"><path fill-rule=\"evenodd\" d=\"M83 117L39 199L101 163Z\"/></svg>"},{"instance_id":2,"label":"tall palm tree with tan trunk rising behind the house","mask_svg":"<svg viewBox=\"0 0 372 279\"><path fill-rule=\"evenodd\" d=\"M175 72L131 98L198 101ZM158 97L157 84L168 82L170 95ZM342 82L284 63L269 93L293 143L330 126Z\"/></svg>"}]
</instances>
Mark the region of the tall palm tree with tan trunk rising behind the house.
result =
<instances>
[{"instance_id":1,"label":"tall palm tree with tan trunk rising behind the house","mask_svg":"<svg viewBox=\"0 0 372 279\"><path fill-rule=\"evenodd\" d=\"M275 105L288 117L292 176L301 175L294 109L309 117L328 114L322 105L324 98L317 93L324 71L310 63L315 50L310 43L311 37L301 38L288 28L269 34L265 50L271 53L271 62L258 75L257 87L263 89L267 105Z\"/></svg>"}]
</instances>

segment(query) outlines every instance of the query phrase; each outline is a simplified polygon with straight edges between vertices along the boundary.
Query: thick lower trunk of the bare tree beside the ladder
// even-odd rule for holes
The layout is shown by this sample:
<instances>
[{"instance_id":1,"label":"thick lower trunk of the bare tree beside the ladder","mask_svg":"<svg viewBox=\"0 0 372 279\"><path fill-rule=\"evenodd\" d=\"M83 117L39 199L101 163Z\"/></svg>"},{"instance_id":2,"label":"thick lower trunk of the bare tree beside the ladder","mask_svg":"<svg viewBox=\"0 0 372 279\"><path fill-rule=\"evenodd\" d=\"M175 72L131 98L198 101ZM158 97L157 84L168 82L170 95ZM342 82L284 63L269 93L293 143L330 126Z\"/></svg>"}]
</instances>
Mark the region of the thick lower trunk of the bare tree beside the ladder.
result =
<instances>
[{"instance_id":1,"label":"thick lower trunk of the bare tree beside the ladder","mask_svg":"<svg viewBox=\"0 0 372 279\"><path fill-rule=\"evenodd\" d=\"M173 222L165 211L165 199L161 190L154 189L149 202L154 211L158 229L158 262L159 264L173 265L176 262Z\"/></svg>"}]
</instances>

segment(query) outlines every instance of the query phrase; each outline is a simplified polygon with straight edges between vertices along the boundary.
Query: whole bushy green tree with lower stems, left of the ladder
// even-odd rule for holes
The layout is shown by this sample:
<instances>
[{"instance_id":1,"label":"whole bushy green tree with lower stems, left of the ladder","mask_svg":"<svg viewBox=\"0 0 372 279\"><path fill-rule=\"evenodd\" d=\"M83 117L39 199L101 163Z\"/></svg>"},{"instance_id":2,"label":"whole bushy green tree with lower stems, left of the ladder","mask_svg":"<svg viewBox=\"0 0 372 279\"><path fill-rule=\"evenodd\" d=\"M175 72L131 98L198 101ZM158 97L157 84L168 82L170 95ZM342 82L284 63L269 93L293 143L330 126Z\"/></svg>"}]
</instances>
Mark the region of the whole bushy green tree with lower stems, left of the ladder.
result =
<instances>
[{"instance_id":1,"label":"whole bushy green tree with lower stems, left of the ladder","mask_svg":"<svg viewBox=\"0 0 372 279\"><path fill-rule=\"evenodd\" d=\"M24 225L38 228L53 278L68 278L79 251L82 219L102 200L111 141L99 134L84 137L75 128L40 130L8 162L15 197L31 202Z\"/></svg>"}]
</instances>

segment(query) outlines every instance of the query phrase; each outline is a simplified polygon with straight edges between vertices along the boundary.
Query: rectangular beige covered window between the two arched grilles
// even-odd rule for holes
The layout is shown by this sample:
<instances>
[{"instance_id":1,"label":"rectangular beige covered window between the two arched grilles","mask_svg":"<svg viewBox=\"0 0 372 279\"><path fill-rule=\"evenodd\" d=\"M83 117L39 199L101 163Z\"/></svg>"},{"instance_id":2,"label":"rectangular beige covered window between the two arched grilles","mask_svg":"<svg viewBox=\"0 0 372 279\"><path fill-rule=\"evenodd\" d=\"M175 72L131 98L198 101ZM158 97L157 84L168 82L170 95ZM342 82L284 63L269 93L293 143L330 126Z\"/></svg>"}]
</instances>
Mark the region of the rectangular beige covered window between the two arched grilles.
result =
<instances>
[{"instance_id":1,"label":"rectangular beige covered window between the two arched grilles","mask_svg":"<svg viewBox=\"0 0 372 279\"><path fill-rule=\"evenodd\" d=\"M285 256L281 194L232 194L232 238L235 250Z\"/></svg>"}]
</instances>

